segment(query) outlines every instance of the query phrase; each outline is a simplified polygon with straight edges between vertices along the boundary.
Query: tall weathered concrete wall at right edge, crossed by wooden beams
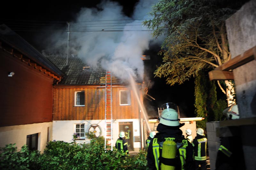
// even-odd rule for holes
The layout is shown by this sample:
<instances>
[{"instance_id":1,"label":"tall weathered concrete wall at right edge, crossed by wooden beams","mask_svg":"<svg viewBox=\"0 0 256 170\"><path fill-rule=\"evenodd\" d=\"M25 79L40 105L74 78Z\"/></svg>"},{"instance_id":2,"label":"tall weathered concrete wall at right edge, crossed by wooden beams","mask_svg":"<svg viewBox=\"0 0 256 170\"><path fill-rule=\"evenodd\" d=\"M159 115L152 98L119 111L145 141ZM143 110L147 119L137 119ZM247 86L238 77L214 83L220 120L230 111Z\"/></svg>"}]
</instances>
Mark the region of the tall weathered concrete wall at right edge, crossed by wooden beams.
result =
<instances>
[{"instance_id":1,"label":"tall weathered concrete wall at right edge, crossed by wooden beams","mask_svg":"<svg viewBox=\"0 0 256 170\"><path fill-rule=\"evenodd\" d=\"M250 0L226 20L231 58L256 46L256 0ZM254 52L255 55L255 52ZM233 70L240 118L256 117L256 60ZM241 126L246 169L255 169L255 123ZM251 134L250 134L251 133ZM250 142L248 144L248 142Z\"/></svg>"}]
</instances>

